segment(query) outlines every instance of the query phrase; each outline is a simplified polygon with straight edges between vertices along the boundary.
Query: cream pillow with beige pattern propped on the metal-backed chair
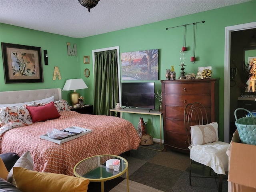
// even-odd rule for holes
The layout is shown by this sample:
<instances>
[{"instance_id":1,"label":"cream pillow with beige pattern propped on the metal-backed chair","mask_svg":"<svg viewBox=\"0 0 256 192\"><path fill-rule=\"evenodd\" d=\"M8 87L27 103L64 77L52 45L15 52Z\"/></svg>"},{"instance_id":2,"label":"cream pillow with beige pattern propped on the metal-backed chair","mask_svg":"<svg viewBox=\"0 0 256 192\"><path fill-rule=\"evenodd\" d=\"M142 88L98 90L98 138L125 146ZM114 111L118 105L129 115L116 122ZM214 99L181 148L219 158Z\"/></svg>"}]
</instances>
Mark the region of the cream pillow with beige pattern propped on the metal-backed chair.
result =
<instances>
[{"instance_id":1,"label":"cream pillow with beige pattern propped on the metal-backed chair","mask_svg":"<svg viewBox=\"0 0 256 192\"><path fill-rule=\"evenodd\" d=\"M202 145L219 140L218 123L190 126L191 146Z\"/></svg>"}]
</instances>

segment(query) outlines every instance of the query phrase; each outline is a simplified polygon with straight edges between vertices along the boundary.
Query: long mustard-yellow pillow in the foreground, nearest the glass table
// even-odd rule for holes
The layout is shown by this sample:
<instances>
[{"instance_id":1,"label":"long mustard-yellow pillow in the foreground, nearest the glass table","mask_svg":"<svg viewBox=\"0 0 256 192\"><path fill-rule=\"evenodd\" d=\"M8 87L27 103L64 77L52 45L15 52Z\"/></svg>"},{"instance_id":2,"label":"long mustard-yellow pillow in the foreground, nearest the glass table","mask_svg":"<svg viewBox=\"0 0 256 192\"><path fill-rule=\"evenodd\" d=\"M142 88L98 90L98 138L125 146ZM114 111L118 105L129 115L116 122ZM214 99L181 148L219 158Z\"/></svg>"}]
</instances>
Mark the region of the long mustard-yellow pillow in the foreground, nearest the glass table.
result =
<instances>
[{"instance_id":1,"label":"long mustard-yellow pillow in the foreground, nearest the glass table","mask_svg":"<svg viewBox=\"0 0 256 192\"><path fill-rule=\"evenodd\" d=\"M23 192L87 192L89 180L56 173L13 168L16 187Z\"/></svg>"}]
</instances>

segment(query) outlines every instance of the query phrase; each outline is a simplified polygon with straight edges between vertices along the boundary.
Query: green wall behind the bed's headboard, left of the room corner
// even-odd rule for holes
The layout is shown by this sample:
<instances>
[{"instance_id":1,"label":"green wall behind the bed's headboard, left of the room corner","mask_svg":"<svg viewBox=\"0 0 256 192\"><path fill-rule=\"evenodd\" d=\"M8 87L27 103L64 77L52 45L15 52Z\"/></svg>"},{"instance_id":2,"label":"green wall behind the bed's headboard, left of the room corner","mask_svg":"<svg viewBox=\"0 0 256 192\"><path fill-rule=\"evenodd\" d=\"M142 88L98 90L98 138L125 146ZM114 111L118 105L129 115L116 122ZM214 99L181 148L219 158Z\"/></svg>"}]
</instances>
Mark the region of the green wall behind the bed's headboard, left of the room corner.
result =
<instances>
[{"instance_id":1,"label":"green wall behind the bed's headboard, left of the room corner","mask_svg":"<svg viewBox=\"0 0 256 192\"><path fill-rule=\"evenodd\" d=\"M43 83L5 84L3 59L0 54L0 91L63 88L66 79L81 76L80 57L68 56L67 51L67 42L70 42L72 48L74 44L77 44L77 49L79 49L80 39L1 23L0 40L5 43L41 47L44 77ZM44 65L44 50L48 52L48 65ZM59 68L62 80L58 78L52 80L55 66ZM67 94L68 91L63 91L62 97L67 99Z\"/></svg>"}]
</instances>

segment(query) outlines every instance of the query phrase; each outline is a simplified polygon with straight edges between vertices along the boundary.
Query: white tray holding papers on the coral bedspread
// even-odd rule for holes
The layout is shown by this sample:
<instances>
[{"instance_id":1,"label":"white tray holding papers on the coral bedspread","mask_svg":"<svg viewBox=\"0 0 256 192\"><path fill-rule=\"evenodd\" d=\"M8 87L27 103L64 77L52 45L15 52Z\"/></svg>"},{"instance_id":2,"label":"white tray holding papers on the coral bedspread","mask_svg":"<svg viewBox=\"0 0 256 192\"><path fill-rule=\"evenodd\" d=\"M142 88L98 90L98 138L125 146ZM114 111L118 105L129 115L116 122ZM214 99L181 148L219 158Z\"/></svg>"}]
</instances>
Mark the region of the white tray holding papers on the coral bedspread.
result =
<instances>
[{"instance_id":1,"label":"white tray holding papers on the coral bedspread","mask_svg":"<svg viewBox=\"0 0 256 192\"><path fill-rule=\"evenodd\" d=\"M83 136L83 135L86 135L86 134L92 132L92 130L90 130L90 129L77 127L77 126L72 126L72 127L63 129L61 131L70 132L70 133L72 133L72 135L66 136L64 138L50 138L48 136L48 134L44 134L44 135L40 135L40 139L45 139L45 140L48 140L48 141L51 141L51 142L61 145L64 142L70 141L72 139L78 138L80 136Z\"/></svg>"}]
</instances>

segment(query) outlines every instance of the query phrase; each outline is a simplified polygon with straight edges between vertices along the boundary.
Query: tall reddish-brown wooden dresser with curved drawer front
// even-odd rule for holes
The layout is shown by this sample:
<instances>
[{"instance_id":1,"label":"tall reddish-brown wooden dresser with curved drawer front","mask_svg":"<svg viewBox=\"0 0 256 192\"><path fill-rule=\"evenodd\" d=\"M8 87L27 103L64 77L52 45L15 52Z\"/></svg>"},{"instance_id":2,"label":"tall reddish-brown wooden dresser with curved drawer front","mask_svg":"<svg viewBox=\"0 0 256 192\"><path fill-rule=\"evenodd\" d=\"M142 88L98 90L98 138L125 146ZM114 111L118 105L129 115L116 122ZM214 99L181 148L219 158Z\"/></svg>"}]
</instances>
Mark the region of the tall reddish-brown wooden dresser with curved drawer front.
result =
<instances>
[{"instance_id":1,"label":"tall reddish-brown wooden dresser with curved drawer front","mask_svg":"<svg viewBox=\"0 0 256 192\"><path fill-rule=\"evenodd\" d=\"M189 152L184 128L186 104L201 102L208 122L218 122L219 79L161 80L163 94L164 150Z\"/></svg>"}]
</instances>

